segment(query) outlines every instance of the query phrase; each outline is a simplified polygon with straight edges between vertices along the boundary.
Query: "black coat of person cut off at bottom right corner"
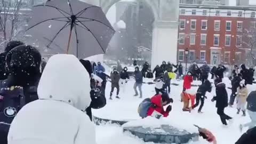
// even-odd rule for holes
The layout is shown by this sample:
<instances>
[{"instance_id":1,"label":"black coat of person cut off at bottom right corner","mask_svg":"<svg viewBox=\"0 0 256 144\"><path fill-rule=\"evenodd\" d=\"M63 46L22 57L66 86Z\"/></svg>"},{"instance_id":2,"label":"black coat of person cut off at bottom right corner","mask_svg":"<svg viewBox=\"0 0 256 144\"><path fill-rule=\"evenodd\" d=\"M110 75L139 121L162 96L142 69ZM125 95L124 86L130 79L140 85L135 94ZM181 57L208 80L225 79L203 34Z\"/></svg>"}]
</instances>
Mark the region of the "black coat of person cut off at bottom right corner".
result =
<instances>
[{"instance_id":1,"label":"black coat of person cut off at bottom right corner","mask_svg":"<svg viewBox=\"0 0 256 144\"><path fill-rule=\"evenodd\" d=\"M255 144L256 142L256 127L247 130L235 144Z\"/></svg>"}]
</instances>

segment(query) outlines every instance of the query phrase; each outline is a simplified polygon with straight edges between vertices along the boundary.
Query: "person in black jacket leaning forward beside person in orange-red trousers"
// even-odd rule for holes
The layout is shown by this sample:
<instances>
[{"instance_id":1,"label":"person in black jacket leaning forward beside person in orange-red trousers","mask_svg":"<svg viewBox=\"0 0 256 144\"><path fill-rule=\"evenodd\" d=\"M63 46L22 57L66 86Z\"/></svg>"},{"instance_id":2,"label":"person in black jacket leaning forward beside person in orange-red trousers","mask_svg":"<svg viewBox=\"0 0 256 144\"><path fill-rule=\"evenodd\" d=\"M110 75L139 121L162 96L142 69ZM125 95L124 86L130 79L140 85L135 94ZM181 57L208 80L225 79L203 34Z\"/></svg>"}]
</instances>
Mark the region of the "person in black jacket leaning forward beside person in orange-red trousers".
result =
<instances>
[{"instance_id":1,"label":"person in black jacket leaning forward beside person in orange-red trousers","mask_svg":"<svg viewBox=\"0 0 256 144\"><path fill-rule=\"evenodd\" d=\"M198 109L198 113L202 113L202 108L204 106L204 99L206 98L206 92L212 91L212 84L210 81L206 80L202 85L200 85L196 92L196 104L192 106L192 108L196 108L199 105L199 101L201 101L201 105Z\"/></svg>"}]
</instances>

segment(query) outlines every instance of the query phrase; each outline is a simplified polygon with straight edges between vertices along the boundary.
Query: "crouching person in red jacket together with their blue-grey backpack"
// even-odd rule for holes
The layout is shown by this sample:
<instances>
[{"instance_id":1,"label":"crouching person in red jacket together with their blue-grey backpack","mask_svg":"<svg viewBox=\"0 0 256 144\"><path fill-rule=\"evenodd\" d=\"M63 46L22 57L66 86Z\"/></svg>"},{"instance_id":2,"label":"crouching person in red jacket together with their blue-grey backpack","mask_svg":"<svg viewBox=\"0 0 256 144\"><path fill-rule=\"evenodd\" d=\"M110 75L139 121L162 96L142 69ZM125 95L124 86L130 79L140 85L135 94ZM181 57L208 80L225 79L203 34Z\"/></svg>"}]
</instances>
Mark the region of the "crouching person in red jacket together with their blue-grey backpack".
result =
<instances>
[{"instance_id":1,"label":"crouching person in red jacket together with their blue-grey backpack","mask_svg":"<svg viewBox=\"0 0 256 144\"><path fill-rule=\"evenodd\" d=\"M139 105L138 113L142 118L147 116L154 116L158 119L162 116L167 117L172 110L170 103L173 103L173 99L167 93L158 94L151 99L143 100ZM167 105L169 106L164 110L164 106Z\"/></svg>"}]
</instances>

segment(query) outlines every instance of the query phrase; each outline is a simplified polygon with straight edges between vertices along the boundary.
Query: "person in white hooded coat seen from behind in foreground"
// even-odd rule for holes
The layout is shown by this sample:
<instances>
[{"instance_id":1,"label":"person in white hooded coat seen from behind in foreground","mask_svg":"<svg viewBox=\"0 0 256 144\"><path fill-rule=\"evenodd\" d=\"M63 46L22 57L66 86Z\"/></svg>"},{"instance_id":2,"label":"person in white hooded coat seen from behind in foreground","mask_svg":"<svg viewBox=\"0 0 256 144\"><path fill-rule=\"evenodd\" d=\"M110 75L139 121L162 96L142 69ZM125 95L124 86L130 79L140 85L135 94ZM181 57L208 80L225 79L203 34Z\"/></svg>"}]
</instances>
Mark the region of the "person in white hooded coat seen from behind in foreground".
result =
<instances>
[{"instance_id":1,"label":"person in white hooded coat seen from behind in foreground","mask_svg":"<svg viewBox=\"0 0 256 144\"><path fill-rule=\"evenodd\" d=\"M53 55L38 85L39 99L11 123L9 144L95 144L95 129L84 113L91 103L90 76L74 55Z\"/></svg>"}]
</instances>

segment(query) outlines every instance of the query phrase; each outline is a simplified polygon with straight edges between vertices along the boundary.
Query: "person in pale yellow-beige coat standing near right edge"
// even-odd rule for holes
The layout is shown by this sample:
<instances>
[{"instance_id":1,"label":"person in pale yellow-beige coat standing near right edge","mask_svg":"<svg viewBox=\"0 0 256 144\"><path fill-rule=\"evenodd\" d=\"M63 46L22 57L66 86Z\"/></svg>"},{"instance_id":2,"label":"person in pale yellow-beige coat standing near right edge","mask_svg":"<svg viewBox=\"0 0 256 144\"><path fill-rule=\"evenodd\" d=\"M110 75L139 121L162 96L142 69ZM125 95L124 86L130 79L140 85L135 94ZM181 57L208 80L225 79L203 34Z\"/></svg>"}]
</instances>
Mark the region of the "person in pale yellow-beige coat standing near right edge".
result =
<instances>
[{"instance_id":1,"label":"person in pale yellow-beige coat standing near right edge","mask_svg":"<svg viewBox=\"0 0 256 144\"><path fill-rule=\"evenodd\" d=\"M245 86L245 80L243 79L240 83L239 86L237 87L237 114L240 113L242 110L243 116L246 116L245 111L246 111L246 99L248 97L248 90Z\"/></svg>"}]
</instances>

